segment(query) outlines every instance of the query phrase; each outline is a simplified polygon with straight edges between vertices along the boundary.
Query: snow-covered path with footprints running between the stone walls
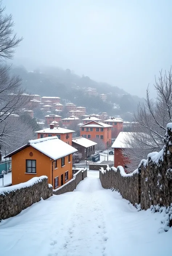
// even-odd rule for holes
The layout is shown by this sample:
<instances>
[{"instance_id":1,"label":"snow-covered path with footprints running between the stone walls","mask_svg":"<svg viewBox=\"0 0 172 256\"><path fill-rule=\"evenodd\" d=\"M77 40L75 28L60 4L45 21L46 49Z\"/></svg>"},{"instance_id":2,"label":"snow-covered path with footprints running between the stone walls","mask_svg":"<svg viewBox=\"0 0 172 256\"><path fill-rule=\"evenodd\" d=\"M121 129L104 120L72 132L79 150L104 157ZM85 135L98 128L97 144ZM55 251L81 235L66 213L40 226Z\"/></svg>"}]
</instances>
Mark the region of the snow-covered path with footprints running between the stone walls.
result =
<instances>
[{"instance_id":1,"label":"snow-covered path with footprints running between the stone walls","mask_svg":"<svg viewBox=\"0 0 172 256\"><path fill-rule=\"evenodd\" d=\"M159 213L137 212L119 193L104 190L98 172L74 192L41 200L0 223L3 256L169 255L172 229L158 233Z\"/></svg>"}]
</instances>

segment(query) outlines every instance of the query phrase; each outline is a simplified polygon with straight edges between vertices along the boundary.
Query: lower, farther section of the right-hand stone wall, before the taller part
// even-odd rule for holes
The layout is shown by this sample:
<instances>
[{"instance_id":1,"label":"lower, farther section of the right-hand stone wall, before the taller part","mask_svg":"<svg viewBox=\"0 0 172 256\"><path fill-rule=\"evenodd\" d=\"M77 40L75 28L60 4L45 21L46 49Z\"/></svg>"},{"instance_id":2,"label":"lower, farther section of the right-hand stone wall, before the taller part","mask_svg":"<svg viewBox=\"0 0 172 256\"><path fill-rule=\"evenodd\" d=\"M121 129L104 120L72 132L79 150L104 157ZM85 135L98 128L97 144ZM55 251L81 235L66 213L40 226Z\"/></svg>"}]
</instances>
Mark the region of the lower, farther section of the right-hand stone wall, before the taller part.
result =
<instances>
[{"instance_id":1,"label":"lower, farther section of the right-hand stone wall, before the taller part","mask_svg":"<svg viewBox=\"0 0 172 256\"><path fill-rule=\"evenodd\" d=\"M99 177L103 188L119 191L123 198L134 205L140 203L140 173L138 170L132 174L126 174L122 166L117 169L115 167L106 170L101 168Z\"/></svg>"}]
</instances>

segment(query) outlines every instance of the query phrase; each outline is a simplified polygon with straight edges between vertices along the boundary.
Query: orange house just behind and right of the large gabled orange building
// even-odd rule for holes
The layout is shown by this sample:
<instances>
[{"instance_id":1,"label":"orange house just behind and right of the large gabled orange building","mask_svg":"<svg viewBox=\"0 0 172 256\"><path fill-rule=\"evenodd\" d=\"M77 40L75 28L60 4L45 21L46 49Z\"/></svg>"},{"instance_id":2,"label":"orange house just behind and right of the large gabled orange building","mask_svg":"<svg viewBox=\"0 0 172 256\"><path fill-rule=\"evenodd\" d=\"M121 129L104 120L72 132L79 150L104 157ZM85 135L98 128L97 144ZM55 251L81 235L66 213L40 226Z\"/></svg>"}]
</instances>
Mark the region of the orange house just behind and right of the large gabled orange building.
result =
<instances>
[{"instance_id":1,"label":"orange house just behind and right of the large gabled orange building","mask_svg":"<svg viewBox=\"0 0 172 256\"><path fill-rule=\"evenodd\" d=\"M123 130L123 120L121 118L111 117L103 121L107 125L112 125L112 138L117 138L118 134Z\"/></svg>"}]
</instances>

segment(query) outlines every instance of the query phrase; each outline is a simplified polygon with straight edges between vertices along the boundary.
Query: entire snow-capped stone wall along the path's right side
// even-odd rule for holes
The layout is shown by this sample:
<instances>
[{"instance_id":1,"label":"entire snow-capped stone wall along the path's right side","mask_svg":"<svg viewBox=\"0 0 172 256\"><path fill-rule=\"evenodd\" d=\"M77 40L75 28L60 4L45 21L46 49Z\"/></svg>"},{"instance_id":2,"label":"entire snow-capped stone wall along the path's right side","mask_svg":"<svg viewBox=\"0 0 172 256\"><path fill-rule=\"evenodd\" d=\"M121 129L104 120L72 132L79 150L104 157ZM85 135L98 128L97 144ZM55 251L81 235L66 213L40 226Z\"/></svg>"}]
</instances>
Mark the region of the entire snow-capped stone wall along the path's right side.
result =
<instances>
[{"instance_id":1,"label":"entire snow-capped stone wall along the path's right side","mask_svg":"<svg viewBox=\"0 0 172 256\"><path fill-rule=\"evenodd\" d=\"M123 198L147 210L152 206L171 206L172 203L172 123L167 125L164 147L160 152L148 154L138 169L126 174L122 166L101 168L103 188L118 190Z\"/></svg>"}]
</instances>

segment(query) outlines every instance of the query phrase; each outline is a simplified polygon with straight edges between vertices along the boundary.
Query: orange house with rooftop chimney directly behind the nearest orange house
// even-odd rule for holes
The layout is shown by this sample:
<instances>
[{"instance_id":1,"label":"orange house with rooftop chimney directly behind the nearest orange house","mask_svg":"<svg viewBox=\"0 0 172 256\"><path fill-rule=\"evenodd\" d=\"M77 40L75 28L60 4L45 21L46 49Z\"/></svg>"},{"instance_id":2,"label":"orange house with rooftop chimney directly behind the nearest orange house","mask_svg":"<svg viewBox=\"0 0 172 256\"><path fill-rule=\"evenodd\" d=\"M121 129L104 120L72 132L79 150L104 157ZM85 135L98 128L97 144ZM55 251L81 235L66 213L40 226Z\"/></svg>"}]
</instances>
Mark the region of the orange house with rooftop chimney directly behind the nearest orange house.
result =
<instances>
[{"instance_id":1,"label":"orange house with rooftop chimney directly behind the nearest orange house","mask_svg":"<svg viewBox=\"0 0 172 256\"><path fill-rule=\"evenodd\" d=\"M38 135L38 139L45 138L45 137L53 137L57 136L59 139L64 141L65 143L69 144L70 146L72 145L72 133L74 131L61 128L54 123L50 124L50 128L46 128L40 131L35 131Z\"/></svg>"}]
</instances>

